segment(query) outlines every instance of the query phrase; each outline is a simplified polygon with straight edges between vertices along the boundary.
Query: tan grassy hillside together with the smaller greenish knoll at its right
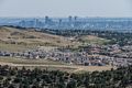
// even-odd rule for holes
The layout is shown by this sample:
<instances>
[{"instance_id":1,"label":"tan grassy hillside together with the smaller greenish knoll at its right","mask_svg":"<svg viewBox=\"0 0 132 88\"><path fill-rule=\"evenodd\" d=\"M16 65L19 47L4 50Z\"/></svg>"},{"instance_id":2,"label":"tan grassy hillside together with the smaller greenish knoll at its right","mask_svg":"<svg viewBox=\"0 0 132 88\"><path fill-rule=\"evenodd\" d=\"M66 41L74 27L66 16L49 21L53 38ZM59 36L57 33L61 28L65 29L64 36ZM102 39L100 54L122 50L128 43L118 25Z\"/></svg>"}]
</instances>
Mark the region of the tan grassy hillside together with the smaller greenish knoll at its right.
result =
<instances>
[{"instance_id":1,"label":"tan grassy hillside together with the smaller greenish knoll at its right","mask_svg":"<svg viewBox=\"0 0 132 88\"><path fill-rule=\"evenodd\" d=\"M20 30L15 28L0 28L0 50L2 51L25 51L36 48L37 46L65 47L70 46L77 48L85 44L106 44L109 40L97 37L94 35L78 36L74 42L64 36L36 32L34 29Z\"/></svg>"}]
</instances>

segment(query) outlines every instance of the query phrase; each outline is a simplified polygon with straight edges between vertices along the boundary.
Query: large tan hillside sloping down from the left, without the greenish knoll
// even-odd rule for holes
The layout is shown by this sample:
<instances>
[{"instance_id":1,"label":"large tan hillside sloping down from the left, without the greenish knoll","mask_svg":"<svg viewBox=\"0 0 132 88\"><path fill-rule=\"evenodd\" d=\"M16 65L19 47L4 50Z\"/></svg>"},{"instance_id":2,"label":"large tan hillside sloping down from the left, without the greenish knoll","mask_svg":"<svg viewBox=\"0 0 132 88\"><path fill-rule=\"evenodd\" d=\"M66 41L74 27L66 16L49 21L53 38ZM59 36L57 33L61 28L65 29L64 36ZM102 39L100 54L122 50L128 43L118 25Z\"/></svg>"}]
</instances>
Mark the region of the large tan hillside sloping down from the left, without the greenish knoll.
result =
<instances>
[{"instance_id":1,"label":"large tan hillside sloping down from the left, without the greenish knoll","mask_svg":"<svg viewBox=\"0 0 132 88\"><path fill-rule=\"evenodd\" d=\"M67 46L73 43L64 36L35 32L34 29L19 30L14 28L0 28L0 50L23 51L36 46Z\"/></svg>"}]
</instances>

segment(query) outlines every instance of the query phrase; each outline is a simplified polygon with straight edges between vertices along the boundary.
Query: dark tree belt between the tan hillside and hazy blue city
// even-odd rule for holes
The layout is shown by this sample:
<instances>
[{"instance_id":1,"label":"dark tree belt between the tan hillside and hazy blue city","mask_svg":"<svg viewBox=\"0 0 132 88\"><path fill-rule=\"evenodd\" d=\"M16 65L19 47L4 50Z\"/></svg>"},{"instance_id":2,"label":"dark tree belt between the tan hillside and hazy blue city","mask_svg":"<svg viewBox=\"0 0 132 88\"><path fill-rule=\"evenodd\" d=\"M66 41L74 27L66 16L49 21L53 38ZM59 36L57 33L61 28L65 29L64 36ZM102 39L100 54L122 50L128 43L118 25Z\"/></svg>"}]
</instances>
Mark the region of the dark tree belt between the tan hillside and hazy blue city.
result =
<instances>
[{"instance_id":1,"label":"dark tree belt between the tan hillside and hazy blue city","mask_svg":"<svg viewBox=\"0 0 132 88\"><path fill-rule=\"evenodd\" d=\"M80 36L80 35L95 35L111 40L109 44L132 45L131 32L118 32L118 31L102 31L102 30L42 30L42 32L63 35L63 36Z\"/></svg>"}]
</instances>

